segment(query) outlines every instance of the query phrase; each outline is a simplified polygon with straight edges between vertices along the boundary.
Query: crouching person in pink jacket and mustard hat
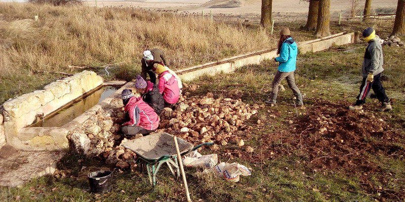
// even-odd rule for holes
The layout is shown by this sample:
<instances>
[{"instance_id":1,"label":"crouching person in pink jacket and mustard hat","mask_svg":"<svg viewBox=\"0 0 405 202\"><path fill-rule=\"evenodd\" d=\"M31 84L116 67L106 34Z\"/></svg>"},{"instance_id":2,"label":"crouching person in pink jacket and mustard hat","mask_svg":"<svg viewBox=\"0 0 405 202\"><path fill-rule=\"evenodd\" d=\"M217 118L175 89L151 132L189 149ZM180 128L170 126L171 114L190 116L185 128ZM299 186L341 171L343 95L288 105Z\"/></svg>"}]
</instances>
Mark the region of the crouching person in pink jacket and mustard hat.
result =
<instances>
[{"instance_id":1,"label":"crouching person in pink jacket and mustard hat","mask_svg":"<svg viewBox=\"0 0 405 202\"><path fill-rule=\"evenodd\" d=\"M153 66L156 68L156 74L159 75L157 88L159 88L160 94L165 99L165 107L173 108L180 96L178 80L163 65L155 63Z\"/></svg>"}]
</instances>

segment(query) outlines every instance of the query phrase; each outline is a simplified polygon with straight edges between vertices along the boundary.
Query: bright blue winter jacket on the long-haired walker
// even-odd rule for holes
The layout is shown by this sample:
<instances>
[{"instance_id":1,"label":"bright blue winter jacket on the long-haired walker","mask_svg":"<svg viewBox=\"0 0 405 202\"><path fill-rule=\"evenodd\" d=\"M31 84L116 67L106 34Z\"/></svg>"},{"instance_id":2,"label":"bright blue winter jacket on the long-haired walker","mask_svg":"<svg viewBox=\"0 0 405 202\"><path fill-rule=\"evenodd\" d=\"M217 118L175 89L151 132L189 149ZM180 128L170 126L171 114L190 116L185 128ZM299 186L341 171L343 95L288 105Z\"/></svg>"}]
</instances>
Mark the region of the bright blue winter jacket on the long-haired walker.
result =
<instances>
[{"instance_id":1,"label":"bright blue winter jacket on the long-haired walker","mask_svg":"<svg viewBox=\"0 0 405 202\"><path fill-rule=\"evenodd\" d=\"M295 71L295 62L297 60L297 43L295 43L292 37L286 39L282 43L280 56L275 58L275 60L278 62L278 71Z\"/></svg>"}]
</instances>

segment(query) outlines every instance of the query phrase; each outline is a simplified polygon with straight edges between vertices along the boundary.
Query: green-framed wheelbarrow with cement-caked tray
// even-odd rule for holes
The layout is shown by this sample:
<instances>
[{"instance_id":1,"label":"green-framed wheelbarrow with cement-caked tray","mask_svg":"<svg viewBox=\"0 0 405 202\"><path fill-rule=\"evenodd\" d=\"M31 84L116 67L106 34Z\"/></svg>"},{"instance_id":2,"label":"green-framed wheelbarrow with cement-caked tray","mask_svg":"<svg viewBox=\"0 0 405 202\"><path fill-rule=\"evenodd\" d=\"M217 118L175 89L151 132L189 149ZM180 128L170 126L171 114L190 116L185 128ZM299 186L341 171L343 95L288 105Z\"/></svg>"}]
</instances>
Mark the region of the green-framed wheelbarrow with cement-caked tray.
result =
<instances>
[{"instance_id":1,"label":"green-framed wheelbarrow with cement-caked tray","mask_svg":"<svg viewBox=\"0 0 405 202\"><path fill-rule=\"evenodd\" d=\"M211 142L205 142L193 147L193 144L178 137L177 142L181 156L184 156L203 145L213 145ZM148 171L151 185L156 185L156 173L163 163L167 163L173 175L175 175L172 168L172 166L174 166L177 170L177 177L180 177L177 151L173 135L169 133L154 133L124 142L122 146L134 151L138 156L138 162L142 160L146 163L146 169Z\"/></svg>"}]
</instances>

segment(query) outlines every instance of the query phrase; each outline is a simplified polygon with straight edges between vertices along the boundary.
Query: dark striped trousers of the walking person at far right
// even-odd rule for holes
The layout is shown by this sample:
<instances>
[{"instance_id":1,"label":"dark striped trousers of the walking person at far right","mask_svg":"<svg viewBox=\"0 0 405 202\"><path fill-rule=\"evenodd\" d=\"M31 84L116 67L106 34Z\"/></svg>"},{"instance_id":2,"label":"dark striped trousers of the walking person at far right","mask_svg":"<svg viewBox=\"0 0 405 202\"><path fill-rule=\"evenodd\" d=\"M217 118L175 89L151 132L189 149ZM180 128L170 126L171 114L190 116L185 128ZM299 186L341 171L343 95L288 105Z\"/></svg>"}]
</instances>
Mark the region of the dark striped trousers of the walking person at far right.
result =
<instances>
[{"instance_id":1,"label":"dark striped trousers of the walking person at far right","mask_svg":"<svg viewBox=\"0 0 405 202\"><path fill-rule=\"evenodd\" d=\"M370 89L373 88L374 94L376 94L380 102L388 103L389 99L385 94L385 89L381 84L381 73L374 76L373 82L367 82L367 77L363 78L360 85L360 94L357 95L357 101L355 105L363 105L366 103L367 94Z\"/></svg>"}]
</instances>

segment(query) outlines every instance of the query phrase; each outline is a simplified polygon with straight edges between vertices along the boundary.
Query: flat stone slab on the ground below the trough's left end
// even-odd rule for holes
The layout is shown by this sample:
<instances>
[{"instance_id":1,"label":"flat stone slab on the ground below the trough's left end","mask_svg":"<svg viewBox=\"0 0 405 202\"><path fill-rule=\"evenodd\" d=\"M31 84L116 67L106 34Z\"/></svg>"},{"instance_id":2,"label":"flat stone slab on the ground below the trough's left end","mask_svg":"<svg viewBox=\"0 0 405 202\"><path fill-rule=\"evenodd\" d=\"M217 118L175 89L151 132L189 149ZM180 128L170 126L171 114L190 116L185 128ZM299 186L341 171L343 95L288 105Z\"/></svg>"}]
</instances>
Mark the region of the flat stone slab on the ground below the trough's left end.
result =
<instances>
[{"instance_id":1,"label":"flat stone slab on the ground below the trough's left end","mask_svg":"<svg viewBox=\"0 0 405 202\"><path fill-rule=\"evenodd\" d=\"M6 144L0 149L0 186L15 187L34 177L53 174L64 151L24 151Z\"/></svg>"}]
</instances>

